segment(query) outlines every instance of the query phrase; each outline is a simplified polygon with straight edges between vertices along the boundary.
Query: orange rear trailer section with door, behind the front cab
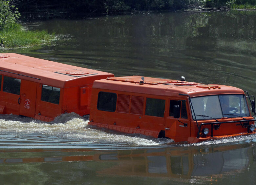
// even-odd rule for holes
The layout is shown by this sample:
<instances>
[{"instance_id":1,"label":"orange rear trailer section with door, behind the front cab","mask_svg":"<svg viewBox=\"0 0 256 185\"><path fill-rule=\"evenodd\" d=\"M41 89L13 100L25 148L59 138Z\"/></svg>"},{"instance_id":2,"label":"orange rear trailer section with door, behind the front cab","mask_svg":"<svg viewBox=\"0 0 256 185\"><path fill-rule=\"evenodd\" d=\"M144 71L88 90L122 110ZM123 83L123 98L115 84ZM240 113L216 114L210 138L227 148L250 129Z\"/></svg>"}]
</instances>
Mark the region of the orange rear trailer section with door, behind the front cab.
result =
<instances>
[{"instance_id":1,"label":"orange rear trailer section with door, behind the front cab","mask_svg":"<svg viewBox=\"0 0 256 185\"><path fill-rule=\"evenodd\" d=\"M0 54L0 113L52 121L89 114L92 84L111 73L15 53Z\"/></svg>"}]
</instances>

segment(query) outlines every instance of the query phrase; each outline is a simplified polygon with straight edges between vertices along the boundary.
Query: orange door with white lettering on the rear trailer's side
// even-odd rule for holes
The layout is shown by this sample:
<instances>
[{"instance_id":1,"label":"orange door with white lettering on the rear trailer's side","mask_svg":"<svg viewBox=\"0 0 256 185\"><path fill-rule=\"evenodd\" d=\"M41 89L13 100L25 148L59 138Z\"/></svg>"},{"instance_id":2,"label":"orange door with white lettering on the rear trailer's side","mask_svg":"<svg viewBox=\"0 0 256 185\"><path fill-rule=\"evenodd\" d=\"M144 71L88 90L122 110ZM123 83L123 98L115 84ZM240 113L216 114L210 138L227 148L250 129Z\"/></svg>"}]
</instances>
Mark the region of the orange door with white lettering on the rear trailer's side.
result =
<instances>
[{"instance_id":1,"label":"orange door with white lettering on the rear trailer's side","mask_svg":"<svg viewBox=\"0 0 256 185\"><path fill-rule=\"evenodd\" d=\"M20 115L28 117L35 116L36 84L35 82L21 80Z\"/></svg>"}]
</instances>

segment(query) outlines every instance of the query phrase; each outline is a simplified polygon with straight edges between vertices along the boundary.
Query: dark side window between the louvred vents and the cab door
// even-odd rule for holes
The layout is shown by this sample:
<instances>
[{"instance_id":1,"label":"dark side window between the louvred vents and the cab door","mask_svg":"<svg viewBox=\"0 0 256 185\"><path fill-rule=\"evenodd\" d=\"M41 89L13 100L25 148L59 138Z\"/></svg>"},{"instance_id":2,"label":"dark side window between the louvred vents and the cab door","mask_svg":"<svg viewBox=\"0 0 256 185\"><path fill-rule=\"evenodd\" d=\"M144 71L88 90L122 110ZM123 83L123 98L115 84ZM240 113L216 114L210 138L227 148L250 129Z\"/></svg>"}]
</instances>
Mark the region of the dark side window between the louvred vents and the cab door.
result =
<instances>
[{"instance_id":1,"label":"dark side window between the louvred vents and the cab door","mask_svg":"<svg viewBox=\"0 0 256 185\"><path fill-rule=\"evenodd\" d=\"M163 117L165 100L147 98L145 115Z\"/></svg>"}]
</instances>

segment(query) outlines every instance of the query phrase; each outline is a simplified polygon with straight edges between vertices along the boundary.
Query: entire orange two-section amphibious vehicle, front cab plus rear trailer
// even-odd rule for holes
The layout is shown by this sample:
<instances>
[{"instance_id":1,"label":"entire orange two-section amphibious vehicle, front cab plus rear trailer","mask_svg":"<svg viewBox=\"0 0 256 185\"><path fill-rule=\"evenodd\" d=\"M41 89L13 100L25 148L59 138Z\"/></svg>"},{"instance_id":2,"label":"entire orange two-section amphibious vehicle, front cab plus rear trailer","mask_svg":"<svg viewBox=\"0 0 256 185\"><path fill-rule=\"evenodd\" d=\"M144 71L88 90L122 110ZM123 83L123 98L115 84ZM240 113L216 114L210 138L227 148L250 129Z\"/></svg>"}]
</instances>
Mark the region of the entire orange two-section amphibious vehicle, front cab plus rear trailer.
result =
<instances>
[{"instance_id":1,"label":"entire orange two-section amphibious vehicle, front cab plus rear trailer","mask_svg":"<svg viewBox=\"0 0 256 185\"><path fill-rule=\"evenodd\" d=\"M254 99L231 86L114 77L20 54L0 54L1 114L52 121L62 113L90 113L91 125L194 143L255 134Z\"/></svg>"}]
</instances>

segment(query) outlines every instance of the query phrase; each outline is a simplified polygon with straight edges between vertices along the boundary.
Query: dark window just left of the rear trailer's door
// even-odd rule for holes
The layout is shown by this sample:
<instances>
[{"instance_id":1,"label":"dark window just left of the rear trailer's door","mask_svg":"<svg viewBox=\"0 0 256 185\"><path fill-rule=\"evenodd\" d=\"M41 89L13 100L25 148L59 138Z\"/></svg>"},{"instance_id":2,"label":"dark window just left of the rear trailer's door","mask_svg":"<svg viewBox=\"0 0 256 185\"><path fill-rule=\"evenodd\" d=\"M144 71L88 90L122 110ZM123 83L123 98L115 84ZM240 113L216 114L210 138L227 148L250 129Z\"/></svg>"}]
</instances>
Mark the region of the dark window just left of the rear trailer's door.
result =
<instances>
[{"instance_id":1,"label":"dark window just left of the rear trailer's door","mask_svg":"<svg viewBox=\"0 0 256 185\"><path fill-rule=\"evenodd\" d=\"M4 76L3 91L6 93L20 94L20 82L18 78Z\"/></svg>"}]
</instances>

